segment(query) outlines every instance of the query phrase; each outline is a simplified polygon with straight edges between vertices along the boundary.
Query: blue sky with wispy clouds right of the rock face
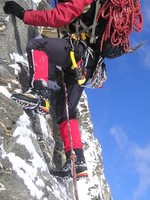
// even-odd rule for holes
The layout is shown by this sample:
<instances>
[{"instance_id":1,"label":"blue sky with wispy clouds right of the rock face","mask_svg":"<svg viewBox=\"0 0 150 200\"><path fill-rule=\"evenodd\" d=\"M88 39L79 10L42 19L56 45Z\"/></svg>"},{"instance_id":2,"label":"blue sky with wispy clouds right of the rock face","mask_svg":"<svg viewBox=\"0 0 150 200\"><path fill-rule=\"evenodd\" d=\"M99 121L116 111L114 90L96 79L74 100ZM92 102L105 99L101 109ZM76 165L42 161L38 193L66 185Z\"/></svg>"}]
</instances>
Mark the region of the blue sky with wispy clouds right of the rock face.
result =
<instances>
[{"instance_id":1,"label":"blue sky with wispy clouds right of the rock face","mask_svg":"<svg viewBox=\"0 0 150 200\"><path fill-rule=\"evenodd\" d=\"M86 89L94 133L102 145L104 171L114 200L150 199L150 4L141 1L147 40L134 54L106 60L102 89Z\"/></svg>"}]
</instances>

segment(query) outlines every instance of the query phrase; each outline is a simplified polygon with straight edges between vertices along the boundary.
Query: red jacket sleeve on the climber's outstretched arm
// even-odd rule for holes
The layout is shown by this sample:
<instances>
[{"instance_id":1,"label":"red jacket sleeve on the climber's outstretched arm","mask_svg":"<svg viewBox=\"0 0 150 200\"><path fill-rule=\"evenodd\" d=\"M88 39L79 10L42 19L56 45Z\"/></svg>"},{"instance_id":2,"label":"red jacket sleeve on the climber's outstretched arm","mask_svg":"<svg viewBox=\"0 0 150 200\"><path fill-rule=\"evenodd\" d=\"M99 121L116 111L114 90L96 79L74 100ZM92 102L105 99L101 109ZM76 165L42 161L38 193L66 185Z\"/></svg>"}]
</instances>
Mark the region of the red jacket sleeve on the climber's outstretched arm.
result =
<instances>
[{"instance_id":1,"label":"red jacket sleeve on the climber's outstretched arm","mask_svg":"<svg viewBox=\"0 0 150 200\"><path fill-rule=\"evenodd\" d=\"M23 21L33 26L59 28L79 17L84 7L93 1L95 0L67 0L64 3L58 3L53 10L26 10Z\"/></svg>"}]
</instances>

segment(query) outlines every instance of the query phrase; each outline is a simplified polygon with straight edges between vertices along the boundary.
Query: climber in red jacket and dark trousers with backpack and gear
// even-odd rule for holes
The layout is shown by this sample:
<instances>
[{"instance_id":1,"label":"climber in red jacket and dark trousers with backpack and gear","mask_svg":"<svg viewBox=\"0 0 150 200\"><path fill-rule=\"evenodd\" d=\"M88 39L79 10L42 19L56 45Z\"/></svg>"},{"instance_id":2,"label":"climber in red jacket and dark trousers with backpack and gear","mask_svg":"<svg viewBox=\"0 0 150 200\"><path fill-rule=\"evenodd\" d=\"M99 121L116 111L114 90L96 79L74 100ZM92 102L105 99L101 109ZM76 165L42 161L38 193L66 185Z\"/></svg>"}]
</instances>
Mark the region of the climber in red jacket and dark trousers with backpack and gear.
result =
<instances>
[{"instance_id":1,"label":"climber in red jacket and dark trousers with backpack and gear","mask_svg":"<svg viewBox=\"0 0 150 200\"><path fill-rule=\"evenodd\" d=\"M65 92L56 78L60 87L57 123L66 154L66 163L62 170L56 171L56 175L67 177L71 174L69 121L76 155L76 176L88 176L76 107L84 86L93 74L96 84L92 86L101 87L105 77L103 73L97 73L97 69L105 66L104 58L131 52L129 36L133 29L138 32L142 29L139 0L61 0L52 10L24 10L16 2L8 1L3 9L6 14L14 14L28 25L64 27L67 30L62 38L33 39L29 42L27 54L31 87L24 93L13 94L12 98L24 109L49 112L48 81L53 70L59 68L62 71L67 88L69 120Z\"/></svg>"}]
</instances>

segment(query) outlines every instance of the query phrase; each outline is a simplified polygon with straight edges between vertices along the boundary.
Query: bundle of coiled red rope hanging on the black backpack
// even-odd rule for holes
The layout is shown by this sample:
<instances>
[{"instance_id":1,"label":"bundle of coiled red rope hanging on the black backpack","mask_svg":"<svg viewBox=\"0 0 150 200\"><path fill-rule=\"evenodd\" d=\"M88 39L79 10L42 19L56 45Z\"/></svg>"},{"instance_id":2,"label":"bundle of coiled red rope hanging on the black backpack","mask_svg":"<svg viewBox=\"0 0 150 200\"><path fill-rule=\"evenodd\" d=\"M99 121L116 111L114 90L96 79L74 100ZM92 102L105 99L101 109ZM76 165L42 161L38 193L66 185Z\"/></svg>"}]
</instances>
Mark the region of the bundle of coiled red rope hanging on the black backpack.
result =
<instances>
[{"instance_id":1,"label":"bundle of coiled red rope hanging on the black backpack","mask_svg":"<svg viewBox=\"0 0 150 200\"><path fill-rule=\"evenodd\" d=\"M100 51L103 43L110 39L113 46L121 45L125 52L130 48L129 37L132 30L142 30L143 18L139 0L106 0L97 15L107 20L106 29L102 35Z\"/></svg>"}]
</instances>

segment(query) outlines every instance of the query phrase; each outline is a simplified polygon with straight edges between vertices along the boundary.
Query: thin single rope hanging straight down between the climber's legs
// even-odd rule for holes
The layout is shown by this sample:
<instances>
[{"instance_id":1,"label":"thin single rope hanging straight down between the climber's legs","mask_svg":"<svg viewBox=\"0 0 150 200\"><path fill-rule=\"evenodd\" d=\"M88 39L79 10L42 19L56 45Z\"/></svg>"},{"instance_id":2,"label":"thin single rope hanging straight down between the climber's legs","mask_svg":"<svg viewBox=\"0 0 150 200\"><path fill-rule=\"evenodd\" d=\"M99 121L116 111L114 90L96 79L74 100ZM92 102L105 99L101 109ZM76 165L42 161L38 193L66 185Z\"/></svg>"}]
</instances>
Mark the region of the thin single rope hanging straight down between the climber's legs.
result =
<instances>
[{"instance_id":1,"label":"thin single rope hanging straight down between the climber's legs","mask_svg":"<svg viewBox=\"0 0 150 200\"><path fill-rule=\"evenodd\" d=\"M70 127L70 121L69 121L69 106L68 106L68 93L67 93L67 86L64 80L64 73L62 71L62 82L64 86L64 93L65 93L65 105L66 105L66 115L67 115L67 127L68 127L68 135L70 139L70 149L71 149L71 173L73 176L73 186L74 186L74 194L75 194L75 199L79 200L79 195L78 195L78 189L77 189L77 178L76 178L76 168L75 168L75 152L73 151L73 143L72 143L72 136L71 136L71 127Z\"/></svg>"}]
</instances>

